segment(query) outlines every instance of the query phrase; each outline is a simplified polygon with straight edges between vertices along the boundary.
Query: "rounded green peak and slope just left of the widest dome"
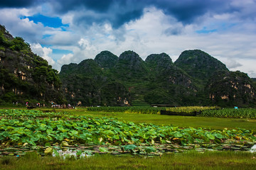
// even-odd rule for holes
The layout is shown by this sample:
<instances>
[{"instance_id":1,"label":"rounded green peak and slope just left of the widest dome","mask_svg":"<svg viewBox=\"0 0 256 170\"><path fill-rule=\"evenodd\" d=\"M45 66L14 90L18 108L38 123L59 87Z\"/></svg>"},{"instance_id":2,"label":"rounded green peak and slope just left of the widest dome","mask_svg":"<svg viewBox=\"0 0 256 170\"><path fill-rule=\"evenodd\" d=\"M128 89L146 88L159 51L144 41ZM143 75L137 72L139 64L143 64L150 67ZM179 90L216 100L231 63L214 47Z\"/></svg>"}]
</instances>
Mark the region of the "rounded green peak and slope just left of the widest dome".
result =
<instances>
[{"instance_id":1,"label":"rounded green peak and slope just left of the widest dome","mask_svg":"<svg viewBox=\"0 0 256 170\"><path fill-rule=\"evenodd\" d=\"M171 105L200 103L194 99L197 87L193 84L193 79L182 69L176 67L169 55L165 53L149 55L145 61L153 73L144 96L146 102Z\"/></svg>"}]
</instances>

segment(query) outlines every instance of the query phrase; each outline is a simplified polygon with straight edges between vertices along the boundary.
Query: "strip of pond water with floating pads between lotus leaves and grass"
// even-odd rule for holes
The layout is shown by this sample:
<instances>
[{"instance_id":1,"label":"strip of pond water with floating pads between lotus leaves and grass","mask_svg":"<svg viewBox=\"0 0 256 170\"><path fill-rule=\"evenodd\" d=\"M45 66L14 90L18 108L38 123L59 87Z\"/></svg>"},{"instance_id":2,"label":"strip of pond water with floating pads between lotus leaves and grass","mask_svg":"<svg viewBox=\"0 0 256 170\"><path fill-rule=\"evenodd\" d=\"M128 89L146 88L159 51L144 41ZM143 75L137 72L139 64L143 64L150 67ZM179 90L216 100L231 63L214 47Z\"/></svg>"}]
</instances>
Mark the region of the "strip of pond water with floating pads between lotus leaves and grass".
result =
<instances>
[{"instance_id":1,"label":"strip of pond water with floating pads between lotus leaves and grass","mask_svg":"<svg viewBox=\"0 0 256 170\"><path fill-rule=\"evenodd\" d=\"M48 152L46 150L48 149ZM139 154L145 156L157 156L161 154L186 152L188 150L196 150L198 152L206 151L240 151L240 152L256 152L256 144L250 145L228 145L228 144L201 144L201 145L70 145L68 147L60 147L59 145L53 145L48 147L35 146L35 147L23 147L23 146L9 146L4 147L0 145L0 157L12 156L22 157L26 152L38 152L41 156L46 154L53 157L90 157L94 154Z\"/></svg>"}]
</instances>

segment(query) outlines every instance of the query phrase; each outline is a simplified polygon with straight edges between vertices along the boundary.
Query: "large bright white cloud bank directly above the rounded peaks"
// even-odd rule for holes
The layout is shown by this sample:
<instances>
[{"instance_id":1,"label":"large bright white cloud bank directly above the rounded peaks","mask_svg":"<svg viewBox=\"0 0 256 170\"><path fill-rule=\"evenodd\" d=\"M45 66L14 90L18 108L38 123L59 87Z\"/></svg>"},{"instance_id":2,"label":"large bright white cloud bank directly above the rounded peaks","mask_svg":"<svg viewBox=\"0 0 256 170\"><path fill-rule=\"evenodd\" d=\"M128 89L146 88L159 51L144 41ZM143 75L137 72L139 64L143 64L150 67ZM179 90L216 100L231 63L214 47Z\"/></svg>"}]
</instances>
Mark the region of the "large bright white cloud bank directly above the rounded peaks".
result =
<instances>
[{"instance_id":1,"label":"large bright white cloud bank directly above the rounded peaks","mask_svg":"<svg viewBox=\"0 0 256 170\"><path fill-rule=\"evenodd\" d=\"M203 22L200 25L183 26L175 18L166 16L157 8L146 8L142 18L130 21L118 29L113 29L109 23L104 23L93 24L87 30L84 28L77 30L82 38L73 46L74 54L70 55L68 60L65 57L61 60L65 60L65 64L68 64L68 61L78 63L87 58L94 58L102 50L110 50L115 55L120 55L125 50L134 50L143 59L152 53L166 52L175 61L183 50L201 49L224 62L231 70L240 69L242 72L255 70L246 61L255 60L256 37L247 31L240 32L240 29L248 23L229 28L234 30L233 33L225 30L228 28L222 28L222 23L230 23L230 18L234 17L233 14L225 13L219 16L206 14L202 17ZM250 28L255 26L252 23L249 25ZM196 30L204 26L223 30L206 34L196 33ZM178 30L179 34L170 32L166 35L166 30Z\"/></svg>"}]
</instances>

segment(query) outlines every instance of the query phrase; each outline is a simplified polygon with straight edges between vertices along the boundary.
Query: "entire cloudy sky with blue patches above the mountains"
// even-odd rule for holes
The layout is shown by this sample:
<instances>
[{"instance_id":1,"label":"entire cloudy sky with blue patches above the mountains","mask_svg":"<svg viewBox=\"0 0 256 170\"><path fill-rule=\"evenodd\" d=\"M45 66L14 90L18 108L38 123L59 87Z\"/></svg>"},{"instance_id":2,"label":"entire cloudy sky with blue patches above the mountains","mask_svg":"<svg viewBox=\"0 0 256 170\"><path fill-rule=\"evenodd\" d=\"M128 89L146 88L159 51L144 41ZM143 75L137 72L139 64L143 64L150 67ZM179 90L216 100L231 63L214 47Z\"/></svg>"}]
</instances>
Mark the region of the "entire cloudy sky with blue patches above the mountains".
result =
<instances>
[{"instance_id":1,"label":"entire cloudy sky with blue patches above the mountains","mask_svg":"<svg viewBox=\"0 0 256 170\"><path fill-rule=\"evenodd\" d=\"M1 0L0 24L58 69L102 50L200 49L256 77L256 0Z\"/></svg>"}]
</instances>

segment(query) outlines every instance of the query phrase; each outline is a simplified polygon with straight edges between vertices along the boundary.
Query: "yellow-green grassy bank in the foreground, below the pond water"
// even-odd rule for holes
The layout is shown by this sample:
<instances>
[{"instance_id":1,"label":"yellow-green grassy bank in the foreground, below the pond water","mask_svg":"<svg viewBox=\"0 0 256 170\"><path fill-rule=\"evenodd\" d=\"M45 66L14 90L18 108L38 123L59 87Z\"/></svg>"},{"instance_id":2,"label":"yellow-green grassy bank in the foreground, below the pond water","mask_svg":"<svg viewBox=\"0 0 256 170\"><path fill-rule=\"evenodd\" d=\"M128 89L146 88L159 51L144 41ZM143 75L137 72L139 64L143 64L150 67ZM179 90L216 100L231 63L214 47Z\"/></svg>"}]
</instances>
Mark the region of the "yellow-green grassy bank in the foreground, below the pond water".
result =
<instances>
[{"instance_id":1,"label":"yellow-green grassy bank in the foreground, below the pond water","mask_svg":"<svg viewBox=\"0 0 256 170\"><path fill-rule=\"evenodd\" d=\"M255 169L256 154L248 152L186 152L161 157L117 157L99 154L86 159L38 157L2 157L0 169Z\"/></svg>"}]
</instances>

